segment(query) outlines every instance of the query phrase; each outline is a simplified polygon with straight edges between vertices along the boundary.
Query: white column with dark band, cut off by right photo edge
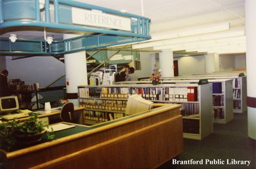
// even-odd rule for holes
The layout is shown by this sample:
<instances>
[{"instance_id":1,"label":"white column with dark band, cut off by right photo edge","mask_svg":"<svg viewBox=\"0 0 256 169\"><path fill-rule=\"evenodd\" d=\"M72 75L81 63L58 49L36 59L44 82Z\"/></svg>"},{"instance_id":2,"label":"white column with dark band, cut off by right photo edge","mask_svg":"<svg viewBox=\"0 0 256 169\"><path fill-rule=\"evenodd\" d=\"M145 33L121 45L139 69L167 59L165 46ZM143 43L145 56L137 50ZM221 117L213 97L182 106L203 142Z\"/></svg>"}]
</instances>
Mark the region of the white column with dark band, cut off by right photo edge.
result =
<instances>
[{"instance_id":1,"label":"white column with dark band, cut off by right photo edge","mask_svg":"<svg viewBox=\"0 0 256 169\"><path fill-rule=\"evenodd\" d=\"M256 140L256 1L245 1L248 136Z\"/></svg>"}]
</instances>

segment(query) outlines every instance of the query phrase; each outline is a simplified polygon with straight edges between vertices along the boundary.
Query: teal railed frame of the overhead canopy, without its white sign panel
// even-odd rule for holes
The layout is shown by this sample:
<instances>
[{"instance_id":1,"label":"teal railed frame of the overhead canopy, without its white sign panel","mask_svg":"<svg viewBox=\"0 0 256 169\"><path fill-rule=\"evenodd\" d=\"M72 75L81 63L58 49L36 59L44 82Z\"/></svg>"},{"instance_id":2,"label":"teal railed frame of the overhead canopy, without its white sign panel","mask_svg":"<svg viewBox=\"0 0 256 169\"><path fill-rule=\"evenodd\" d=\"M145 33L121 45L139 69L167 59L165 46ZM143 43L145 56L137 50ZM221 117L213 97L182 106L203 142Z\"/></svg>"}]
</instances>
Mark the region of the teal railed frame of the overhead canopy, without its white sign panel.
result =
<instances>
[{"instance_id":1,"label":"teal railed frame of the overhead canopy, without its white sign panel","mask_svg":"<svg viewBox=\"0 0 256 169\"><path fill-rule=\"evenodd\" d=\"M15 3L19 5L15 5ZM22 15L22 8L31 10L31 13ZM54 20L51 20L49 6L54 5ZM34 6L33 6L34 5ZM20 27L29 29L43 28L47 30L69 33L81 32L85 35L76 38L68 38L66 40L54 40L49 45L45 40L18 39L15 43L11 43L8 38L1 39L0 54L33 54L33 55L58 55L70 54L81 50L90 50L96 48L104 48L113 45L121 45L150 39L149 22L147 17L133 15L130 13L122 13L100 6L94 6L86 3L79 3L70 0L45 0L45 20L41 20L41 11L39 0L35 1L13 1L10 2L0 0L0 32L19 31ZM4 8L4 10L3 10ZM81 10L100 10L103 14L118 15L122 18L131 20L131 30L124 31L120 29L111 29L107 27L88 27L86 25L78 25L73 23L72 19L68 19L63 15L59 15L60 11L67 11L68 17L76 15L77 11L73 8ZM15 12L10 12L15 11ZM29 15L29 16L27 16ZM65 32L64 31L64 32ZM92 34L88 34L92 33ZM24 46L26 46L24 48Z\"/></svg>"}]
</instances>

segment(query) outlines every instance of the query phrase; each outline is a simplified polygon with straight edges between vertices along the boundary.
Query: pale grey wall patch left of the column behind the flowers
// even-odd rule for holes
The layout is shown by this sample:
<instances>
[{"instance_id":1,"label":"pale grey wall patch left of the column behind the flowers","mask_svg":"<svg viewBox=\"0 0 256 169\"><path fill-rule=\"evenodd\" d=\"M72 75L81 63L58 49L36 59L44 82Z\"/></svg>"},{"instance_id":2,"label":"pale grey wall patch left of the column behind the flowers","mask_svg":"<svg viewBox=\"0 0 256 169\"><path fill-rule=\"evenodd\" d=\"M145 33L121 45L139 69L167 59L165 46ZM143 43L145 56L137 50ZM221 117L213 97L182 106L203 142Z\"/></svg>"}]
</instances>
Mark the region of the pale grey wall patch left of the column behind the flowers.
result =
<instances>
[{"instance_id":1,"label":"pale grey wall patch left of the column behind the flowers","mask_svg":"<svg viewBox=\"0 0 256 169\"><path fill-rule=\"evenodd\" d=\"M134 72L139 78L151 76L151 73L153 71L151 57L152 55L150 55L150 53L148 52L140 52L141 70L136 70Z\"/></svg>"}]
</instances>

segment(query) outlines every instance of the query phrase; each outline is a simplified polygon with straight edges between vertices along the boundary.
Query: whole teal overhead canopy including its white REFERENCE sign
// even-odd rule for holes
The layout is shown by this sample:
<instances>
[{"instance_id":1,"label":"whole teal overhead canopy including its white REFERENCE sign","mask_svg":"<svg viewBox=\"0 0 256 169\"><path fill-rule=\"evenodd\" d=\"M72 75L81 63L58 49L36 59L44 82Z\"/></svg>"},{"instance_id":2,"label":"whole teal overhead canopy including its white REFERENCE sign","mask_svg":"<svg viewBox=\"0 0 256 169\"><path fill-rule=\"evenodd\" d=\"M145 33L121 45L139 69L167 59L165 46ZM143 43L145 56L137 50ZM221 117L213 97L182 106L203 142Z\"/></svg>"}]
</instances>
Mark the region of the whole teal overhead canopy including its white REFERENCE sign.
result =
<instances>
[{"instance_id":1,"label":"whole teal overhead canopy including its white REFERENCE sign","mask_svg":"<svg viewBox=\"0 0 256 169\"><path fill-rule=\"evenodd\" d=\"M0 0L0 34L24 30L81 34L51 44L46 38L18 37L15 43L0 38L0 54L59 55L148 40L149 24L146 17L70 0Z\"/></svg>"}]
</instances>

